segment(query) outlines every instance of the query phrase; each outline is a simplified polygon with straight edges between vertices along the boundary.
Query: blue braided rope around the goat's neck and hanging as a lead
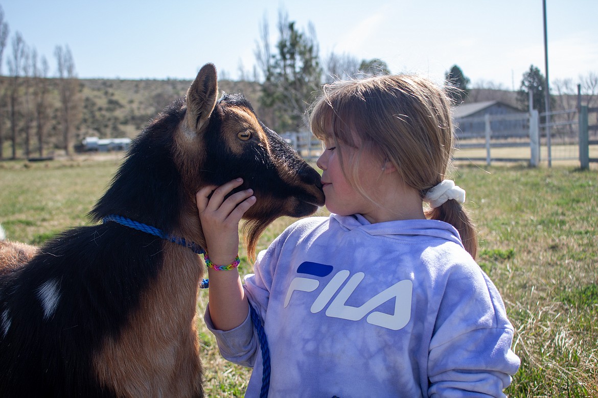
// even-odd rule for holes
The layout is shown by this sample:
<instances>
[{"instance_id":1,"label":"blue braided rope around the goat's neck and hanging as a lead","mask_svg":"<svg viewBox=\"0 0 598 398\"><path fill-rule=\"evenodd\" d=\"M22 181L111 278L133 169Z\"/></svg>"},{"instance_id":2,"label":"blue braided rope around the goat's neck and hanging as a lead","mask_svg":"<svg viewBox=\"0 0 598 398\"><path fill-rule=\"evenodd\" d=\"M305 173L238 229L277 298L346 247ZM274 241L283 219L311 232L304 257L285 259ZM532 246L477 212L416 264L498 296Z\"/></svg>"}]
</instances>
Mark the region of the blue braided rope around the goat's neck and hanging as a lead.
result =
<instances>
[{"instance_id":1,"label":"blue braided rope around the goat's neck and hanging as a lead","mask_svg":"<svg viewBox=\"0 0 598 398\"><path fill-rule=\"evenodd\" d=\"M206 253L206 251L201 246L197 245L197 243L187 243L184 237L169 235L167 233L164 233L160 229L148 226L147 224L138 223L137 221L121 217L120 215L111 214L102 218L103 223L107 223L108 221L114 221L115 223L121 224L123 226L130 227L132 229L136 229L145 233L149 233L150 235L161 237L164 240L169 240L170 242L176 243L177 245L188 247L197 254ZM202 279L199 286L202 289L209 288L209 280ZM254 323L255 331L258 334L258 338L260 338L260 350L262 354L263 368L260 398L267 398L268 391L270 390L270 350L268 348L268 339L266 338L266 331L264 331L264 326L261 324L260 315L257 313L257 311L254 310L254 307L252 307L251 304L249 304L249 312L251 313L251 320Z\"/></svg>"}]
</instances>

